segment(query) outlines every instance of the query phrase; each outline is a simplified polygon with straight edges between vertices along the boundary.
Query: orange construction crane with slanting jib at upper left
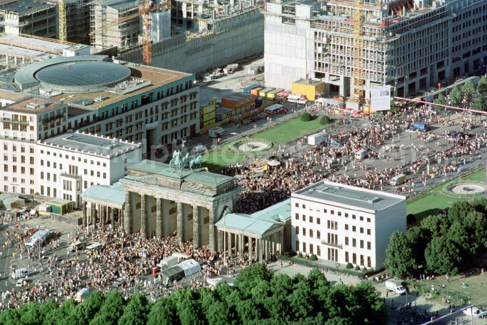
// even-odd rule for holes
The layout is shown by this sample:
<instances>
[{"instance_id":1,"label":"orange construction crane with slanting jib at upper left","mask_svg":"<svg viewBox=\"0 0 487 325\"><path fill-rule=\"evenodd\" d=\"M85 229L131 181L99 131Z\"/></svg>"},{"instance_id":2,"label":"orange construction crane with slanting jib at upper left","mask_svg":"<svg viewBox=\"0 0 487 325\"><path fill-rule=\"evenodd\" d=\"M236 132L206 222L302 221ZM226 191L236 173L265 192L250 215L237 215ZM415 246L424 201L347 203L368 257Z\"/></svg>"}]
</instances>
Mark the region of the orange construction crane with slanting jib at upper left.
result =
<instances>
[{"instance_id":1,"label":"orange construction crane with slanting jib at upper left","mask_svg":"<svg viewBox=\"0 0 487 325\"><path fill-rule=\"evenodd\" d=\"M153 5L151 0L145 0L145 3L139 7L139 11L137 13L114 20L109 24L98 27L95 30L91 31L88 35L94 36L95 34L101 33L102 31L109 29L113 26L120 25L125 21L142 16L142 59L146 65L150 65L152 59L152 51L150 50L151 41L149 34L152 20L150 18L150 13L162 7L162 3L159 3L158 5ZM166 10L170 10L170 0L166 1L165 8Z\"/></svg>"}]
</instances>

